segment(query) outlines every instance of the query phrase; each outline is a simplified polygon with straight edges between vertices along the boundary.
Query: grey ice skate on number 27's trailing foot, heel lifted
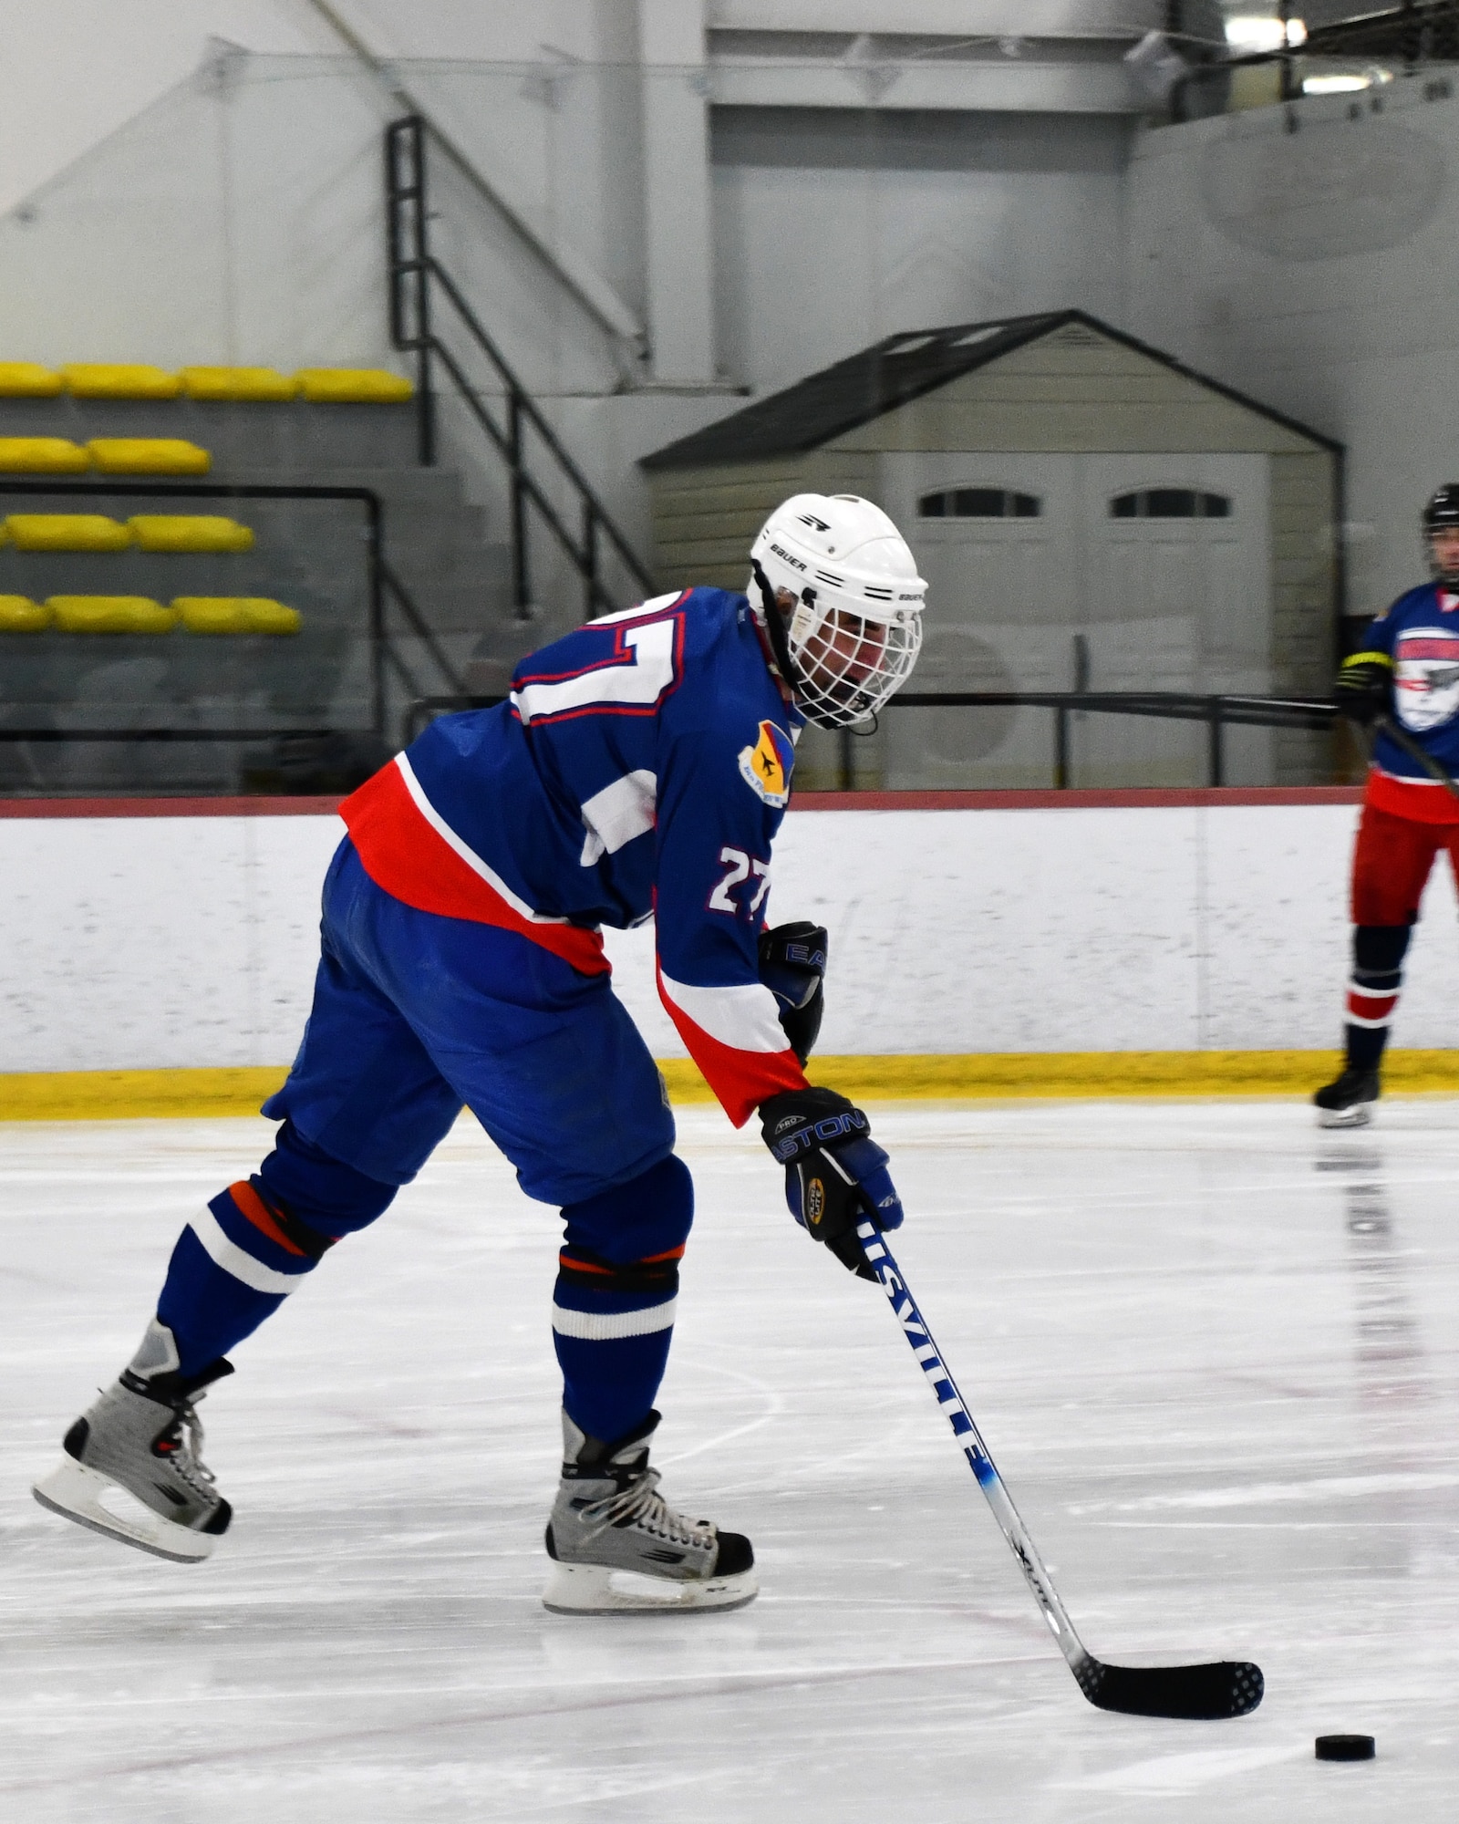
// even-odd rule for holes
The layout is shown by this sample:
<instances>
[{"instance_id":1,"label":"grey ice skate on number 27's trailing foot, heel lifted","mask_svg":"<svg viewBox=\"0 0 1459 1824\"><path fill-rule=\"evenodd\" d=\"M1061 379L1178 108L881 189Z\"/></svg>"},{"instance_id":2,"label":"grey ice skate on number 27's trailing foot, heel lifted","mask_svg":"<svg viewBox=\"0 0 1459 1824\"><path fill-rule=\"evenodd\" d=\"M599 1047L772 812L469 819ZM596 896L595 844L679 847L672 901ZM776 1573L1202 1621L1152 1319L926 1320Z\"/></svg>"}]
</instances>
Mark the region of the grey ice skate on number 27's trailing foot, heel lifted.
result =
<instances>
[{"instance_id":1,"label":"grey ice skate on number 27's trailing foot, heel lifted","mask_svg":"<svg viewBox=\"0 0 1459 1824\"><path fill-rule=\"evenodd\" d=\"M153 1321L120 1381L66 1434L66 1456L35 1485L36 1501L157 1558L206 1558L233 1510L201 1461L195 1403L232 1372L217 1361L179 1375L171 1332Z\"/></svg>"}]
</instances>

